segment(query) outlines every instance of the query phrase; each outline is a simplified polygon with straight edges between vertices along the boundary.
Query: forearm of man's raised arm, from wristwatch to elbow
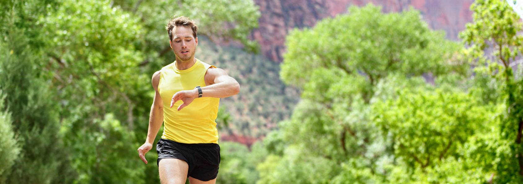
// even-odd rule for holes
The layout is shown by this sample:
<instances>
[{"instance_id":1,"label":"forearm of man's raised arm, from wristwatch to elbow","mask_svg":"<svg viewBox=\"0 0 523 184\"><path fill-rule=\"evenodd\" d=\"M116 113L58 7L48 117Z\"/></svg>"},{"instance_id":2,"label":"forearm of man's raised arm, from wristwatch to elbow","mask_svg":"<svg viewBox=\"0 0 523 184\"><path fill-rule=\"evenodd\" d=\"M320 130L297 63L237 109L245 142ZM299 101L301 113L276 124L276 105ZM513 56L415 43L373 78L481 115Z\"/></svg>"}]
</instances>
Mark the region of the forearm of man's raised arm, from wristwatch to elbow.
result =
<instances>
[{"instance_id":1,"label":"forearm of man's raised arm, from wristwatch to elbow","mask_svg":"<svg viewBox=\"0 0 523 184\"><path fill-rule=\"evenodd\" d=\"M240 93L240 84L236 81L224 81L202 87L202 97L225 98ZM195 89L198 97L198 90Z\"/></svg>"}]
</instances>

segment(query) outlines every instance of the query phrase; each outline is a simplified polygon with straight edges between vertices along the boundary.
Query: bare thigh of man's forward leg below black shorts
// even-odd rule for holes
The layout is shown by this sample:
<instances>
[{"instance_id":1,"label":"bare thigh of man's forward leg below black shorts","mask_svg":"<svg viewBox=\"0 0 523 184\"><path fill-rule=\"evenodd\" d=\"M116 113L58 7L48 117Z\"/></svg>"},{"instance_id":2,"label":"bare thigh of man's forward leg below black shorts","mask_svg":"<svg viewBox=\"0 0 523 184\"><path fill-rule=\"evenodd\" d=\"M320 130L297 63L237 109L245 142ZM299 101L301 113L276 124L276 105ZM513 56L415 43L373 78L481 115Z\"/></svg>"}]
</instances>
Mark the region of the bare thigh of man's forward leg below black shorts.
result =
<instances>
[{"instance_id":1,"label":"bare thigh of man's forward leg below black shorts","mask_svg":"<svg viewBox=\"0 0 523 184\"><path fill-rule=\"evenodd\" d=\"M177 158L163 158L158 163L158 170L162 184L184 184L189 165Z\"/></svg>"}]
</instances>

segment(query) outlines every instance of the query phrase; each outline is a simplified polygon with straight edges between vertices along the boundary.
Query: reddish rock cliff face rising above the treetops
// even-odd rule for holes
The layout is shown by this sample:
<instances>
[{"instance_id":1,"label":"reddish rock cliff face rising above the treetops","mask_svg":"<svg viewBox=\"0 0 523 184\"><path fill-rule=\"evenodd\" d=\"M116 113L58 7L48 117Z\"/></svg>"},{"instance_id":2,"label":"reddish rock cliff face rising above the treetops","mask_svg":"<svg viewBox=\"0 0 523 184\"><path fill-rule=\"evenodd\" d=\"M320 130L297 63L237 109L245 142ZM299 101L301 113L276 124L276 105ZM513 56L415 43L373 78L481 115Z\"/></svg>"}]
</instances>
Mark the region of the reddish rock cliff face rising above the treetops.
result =
<instances>
[{"instance_id":1,"label":"reddish rock cliff face rising above the treetops","mask_svg":"<svg viewBox=\"0 0 523 184\"><path fill-rule=\"evenodd\" d=\"M472 21L469 7L473 0L255 0L260 7L259 28L251 36L270 60L281 62L285 52L285 37L294 28L313 27L317 21L347 13L351 5L380 5L384 13L408 10L420 11L428 25L444 30L447 38L458 40L459 31Z\"/></svg>"}]
</instances>

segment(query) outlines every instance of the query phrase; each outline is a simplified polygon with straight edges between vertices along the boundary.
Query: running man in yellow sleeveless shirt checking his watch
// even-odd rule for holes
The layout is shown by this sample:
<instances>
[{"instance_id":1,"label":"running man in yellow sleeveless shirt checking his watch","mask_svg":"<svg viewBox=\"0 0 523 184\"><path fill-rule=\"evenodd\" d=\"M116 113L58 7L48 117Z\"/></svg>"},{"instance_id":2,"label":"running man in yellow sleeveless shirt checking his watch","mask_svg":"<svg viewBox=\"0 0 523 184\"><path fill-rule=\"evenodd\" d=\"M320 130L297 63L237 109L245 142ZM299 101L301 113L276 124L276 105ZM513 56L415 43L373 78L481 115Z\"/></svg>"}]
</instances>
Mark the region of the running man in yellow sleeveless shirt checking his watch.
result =
<instances>
[{"instance_id":1,"label":"running man in yellow sleeveless shirt checking his watch","mask_svg":"<svg viewBox=\"0 0 523 184\"><path fill-rule=\"evenodd\" d=\"M175 17L167 24L176 61L153 74L156 91L145 143L138 148L142 161L152 148L162 121L162 139L156 144L162 183L215 183L220 165L218 130L214 121L220 98L236 95L240 85L221 68L195 58L198 37L195 22Z\"/></svg>"}]
</instances>

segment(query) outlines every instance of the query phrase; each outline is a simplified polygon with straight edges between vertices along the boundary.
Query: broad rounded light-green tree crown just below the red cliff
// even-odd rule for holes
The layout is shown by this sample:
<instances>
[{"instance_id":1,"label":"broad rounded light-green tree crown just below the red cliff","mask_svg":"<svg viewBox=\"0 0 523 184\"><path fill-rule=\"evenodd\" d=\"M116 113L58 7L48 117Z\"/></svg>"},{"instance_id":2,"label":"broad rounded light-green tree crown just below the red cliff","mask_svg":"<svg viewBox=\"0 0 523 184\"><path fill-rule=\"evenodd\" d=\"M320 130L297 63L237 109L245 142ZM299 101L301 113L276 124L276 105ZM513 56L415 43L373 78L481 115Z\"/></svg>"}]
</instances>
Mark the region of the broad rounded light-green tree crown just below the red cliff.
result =
<instances>
[{"instance_id":1,"label":"broad rounded light-green tree crown just below the red cliff","mask_svg":"<svg viewBox=\"0 0 523 184\"><path fill-rule=\"evenodd\" d=\"M460 63L455 63L458 67L444 63L459 45L431 31L415 10L383 15L371 4L353 6L349 14L324 19L312 29L295 29L286 44L281 78L300 88L316 67L363 73L371 85L391 72L439 75L467 69Z\"/></svg>"}]
</instances>

